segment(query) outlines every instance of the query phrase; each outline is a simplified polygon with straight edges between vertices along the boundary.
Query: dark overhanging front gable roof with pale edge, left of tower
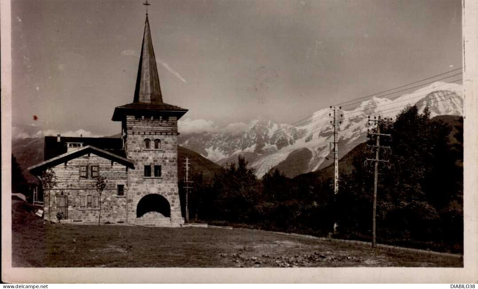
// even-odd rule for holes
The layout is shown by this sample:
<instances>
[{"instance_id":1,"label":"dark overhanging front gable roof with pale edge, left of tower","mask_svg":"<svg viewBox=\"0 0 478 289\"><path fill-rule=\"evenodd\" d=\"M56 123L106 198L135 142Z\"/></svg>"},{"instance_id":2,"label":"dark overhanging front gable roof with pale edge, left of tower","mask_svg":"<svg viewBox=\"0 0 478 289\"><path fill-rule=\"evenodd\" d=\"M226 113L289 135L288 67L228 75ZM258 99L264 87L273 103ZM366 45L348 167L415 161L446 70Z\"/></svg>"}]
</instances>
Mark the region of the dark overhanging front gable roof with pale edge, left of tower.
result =
<instances>
[{"instance_id":1,"label":"dark overhanging front gable roof with pale edge, left of tower","mask_svg":"<svg viewBox=\"0 0 478 289\"><path fill-rule=\"evenodd\" d=\"M109 151L106 151L106 150L101 150L101 149L98 149L96 147L93 147L93 146L86 146L86 147L83 147L83 148L79 148L77 150L72 150L70 152L66 152L64 154L61 154L57 157L54 157L52 159L49 159L47 161L43 161L39 164L36 164L34 166L31 166L28 168L28 171L32 172L32 174L36 174L36 173L40 173L50 167L53 167L55 165L58 165L62 162L65 162L65 161L69 161L69 160L73 160L79 156L82 156L84 154L87 154L87 153L94 153L100 157L103 157L105 159L109 159L109 160L112 160L112 161L116 161L120 164L123 164L123 165L126 165L128 167L132 167L134 168L134 162L127 159L127 158L123 158L123 157L120 157L119 155L116 155L114 153L111 153Z\"/></svg>"}]
</instances>

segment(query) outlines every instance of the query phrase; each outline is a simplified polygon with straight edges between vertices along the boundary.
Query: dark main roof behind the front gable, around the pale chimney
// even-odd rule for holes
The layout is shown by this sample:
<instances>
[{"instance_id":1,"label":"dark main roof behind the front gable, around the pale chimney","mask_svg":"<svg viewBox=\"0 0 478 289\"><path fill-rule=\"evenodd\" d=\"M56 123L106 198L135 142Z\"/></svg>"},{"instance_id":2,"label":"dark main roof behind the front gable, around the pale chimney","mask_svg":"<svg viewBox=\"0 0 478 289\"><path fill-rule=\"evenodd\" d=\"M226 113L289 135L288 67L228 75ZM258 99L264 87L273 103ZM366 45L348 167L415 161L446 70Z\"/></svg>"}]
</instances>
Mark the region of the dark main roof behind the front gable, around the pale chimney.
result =
<instances>
[{"instance_id":1,"label":"dark main roof behind the front gable, around the pale chimney","mask_svg":"<svg viewBox=\"0 0 478 289\"><path fill-rule=\"evenodd\" d=\"M119 157L126 158L126 152L123 150L123 141L118 138L77 138L77 137L45 137L44 160L49 160L66 153L67 142L81 142L83 146L93 146L98 149L107 150Z\"/></svg>"}]
</instances>

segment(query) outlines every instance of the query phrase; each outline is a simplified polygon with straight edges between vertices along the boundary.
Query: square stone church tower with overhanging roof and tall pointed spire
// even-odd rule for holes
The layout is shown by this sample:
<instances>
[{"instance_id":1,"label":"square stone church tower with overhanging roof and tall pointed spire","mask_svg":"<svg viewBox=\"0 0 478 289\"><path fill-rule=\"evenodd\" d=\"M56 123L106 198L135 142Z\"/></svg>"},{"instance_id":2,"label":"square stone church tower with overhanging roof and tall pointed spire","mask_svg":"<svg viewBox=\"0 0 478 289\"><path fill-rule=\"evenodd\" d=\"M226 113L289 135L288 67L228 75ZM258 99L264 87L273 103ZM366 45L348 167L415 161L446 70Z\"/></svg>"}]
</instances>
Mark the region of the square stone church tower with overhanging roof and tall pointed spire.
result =
<instances>
[{"instance_id":1,"label":"square stone church tower with overhanging roof and tall pointed spire","mask_svg":"<svg viewBox=\"0 0 478 289\"><path fill-rule=\"evenodd\" d=\"M177 121L187 109L163 102L146 13L133 102L116 107L121 121L128 171L127 222L138 225L184 224L178 191Z\"/></svg>"}]
</instances>

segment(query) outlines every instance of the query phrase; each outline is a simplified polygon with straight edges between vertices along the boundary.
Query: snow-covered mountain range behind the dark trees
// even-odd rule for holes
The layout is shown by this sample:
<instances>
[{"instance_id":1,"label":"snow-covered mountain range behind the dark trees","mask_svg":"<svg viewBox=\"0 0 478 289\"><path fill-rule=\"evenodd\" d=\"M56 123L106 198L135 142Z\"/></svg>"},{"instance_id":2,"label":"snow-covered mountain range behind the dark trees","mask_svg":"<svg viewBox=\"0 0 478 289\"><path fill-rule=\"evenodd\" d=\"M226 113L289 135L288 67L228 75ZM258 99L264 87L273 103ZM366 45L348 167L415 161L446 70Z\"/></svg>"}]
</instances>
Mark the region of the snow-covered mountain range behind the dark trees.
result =
<instances>
[{"instance_id":1,"label":"snow-covered mountain range behind the dark trees","mask_svg":"<svg viewBox=\"0 0 478 289\"><path fill-rule=\"evenodd\" d=\"M339 131L339 157L365 141L368 116L394 118L406 105L416 105L420 112L429 107L436 115L462 115L462 86L435 82L413 93L401 96L372 97L344 104ZM350 107L350 108L349 108ZM293 125L276 124L270 120L253 120L249 127L236 134L203 132L181 134L179 144L194 150L220 165L237 161L239 154L261 177L278 168L287 176L315 171L331 162L329 144L333 141L329 108Z\"/></svg>"}]
</instances>

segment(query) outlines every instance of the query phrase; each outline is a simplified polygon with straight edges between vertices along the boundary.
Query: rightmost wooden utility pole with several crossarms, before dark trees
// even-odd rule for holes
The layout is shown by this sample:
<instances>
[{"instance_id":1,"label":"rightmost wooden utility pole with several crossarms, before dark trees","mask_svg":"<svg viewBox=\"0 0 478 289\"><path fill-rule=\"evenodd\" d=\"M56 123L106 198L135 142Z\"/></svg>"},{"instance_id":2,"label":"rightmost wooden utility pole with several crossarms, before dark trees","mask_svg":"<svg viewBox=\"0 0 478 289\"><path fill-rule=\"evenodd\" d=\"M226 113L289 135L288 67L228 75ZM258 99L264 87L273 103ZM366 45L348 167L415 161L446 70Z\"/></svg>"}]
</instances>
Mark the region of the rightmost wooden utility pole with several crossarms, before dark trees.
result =
<instances>
[{"instance_id":1,"label":"rightmost wooden utility pole with several crossarms, before dark trees","mask_svg":"<svg viewBox=\"0 0 478 289\"><path fill-rule=\"evenodd\" d=\"M375 129L372 129L372 132L369 132L370 136L375 136L375 145L367 145L368 148L370 148L372 151L375 151L375 159L367 159L365 161L365 164L367 165L367 162L374 163L375 169L374 169L374 179L373 179L373 216L372 216L372 247L375 248L377 246L376 244L376 227L377 227L377 185L378 185L378 179L379 179L379 163L386 164L388 163L390 165L390 161L385 161L385 160L380 160L380 149L383 150L390 150L390 146L380 146L380 137L390 137L390 134L383 134L380 132L380 127L383 123L388 123L391 121L391 118L385 118L382 119L380 116L374 117L374 119L370 119L369 117L369 123L374 122L375 123Z\"/></svg>"}]
</instances>

